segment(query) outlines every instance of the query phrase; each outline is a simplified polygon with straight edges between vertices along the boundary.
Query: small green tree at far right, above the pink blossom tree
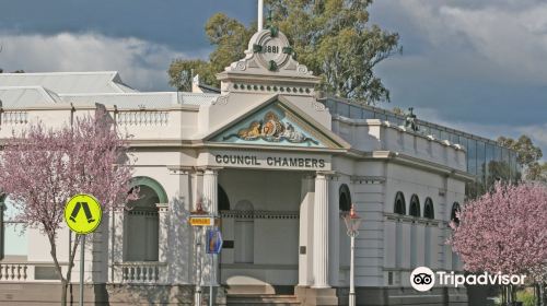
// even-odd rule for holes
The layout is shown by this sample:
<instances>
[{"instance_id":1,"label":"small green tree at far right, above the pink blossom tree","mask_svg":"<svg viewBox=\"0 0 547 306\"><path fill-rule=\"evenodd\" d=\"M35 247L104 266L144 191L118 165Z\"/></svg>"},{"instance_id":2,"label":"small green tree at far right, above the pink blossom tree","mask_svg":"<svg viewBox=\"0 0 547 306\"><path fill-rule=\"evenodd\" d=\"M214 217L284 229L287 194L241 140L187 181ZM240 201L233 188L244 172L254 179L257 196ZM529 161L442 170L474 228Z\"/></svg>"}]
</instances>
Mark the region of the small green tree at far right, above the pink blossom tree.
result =
<instances>
[{"instance_id":1,"label":"small green tree at far right, above the pink blossom tree","mask_svg":"<svg viewBox=\"0 0 547 306\"><path fill-rule=\"evenodd\" d=\"M542 149L529 137L523 134L517 140L500 137L498 143L516 152L516 162L523 167L526 180L547 181L547 164L539 162Z\"/></svg>"}]
</instances>

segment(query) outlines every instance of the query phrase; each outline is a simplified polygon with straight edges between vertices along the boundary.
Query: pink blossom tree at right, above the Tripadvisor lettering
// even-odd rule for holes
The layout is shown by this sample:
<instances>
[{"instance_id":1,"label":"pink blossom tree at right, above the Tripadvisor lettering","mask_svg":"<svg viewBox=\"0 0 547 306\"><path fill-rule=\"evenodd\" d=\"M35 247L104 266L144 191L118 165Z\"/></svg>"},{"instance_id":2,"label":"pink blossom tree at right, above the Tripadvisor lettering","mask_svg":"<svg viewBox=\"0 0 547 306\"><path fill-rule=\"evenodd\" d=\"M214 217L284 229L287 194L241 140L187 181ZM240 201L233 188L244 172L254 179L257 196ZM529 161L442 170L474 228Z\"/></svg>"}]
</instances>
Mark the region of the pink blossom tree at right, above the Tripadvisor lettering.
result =
<instances>
[{"instance_id":1,"label":"pink blossom tree at right, above the Tripadvisor lettering","mask_svg":"<svg viewBox=\"0 0 547 306\"><path fill-rule=\"evenodd\" d=\"M547 263L547 188L496 184L468 201L449 243L469 272L524 273L538 280ZM511 298L511 295L508 295Z\"/></svg>"}]
</instances>

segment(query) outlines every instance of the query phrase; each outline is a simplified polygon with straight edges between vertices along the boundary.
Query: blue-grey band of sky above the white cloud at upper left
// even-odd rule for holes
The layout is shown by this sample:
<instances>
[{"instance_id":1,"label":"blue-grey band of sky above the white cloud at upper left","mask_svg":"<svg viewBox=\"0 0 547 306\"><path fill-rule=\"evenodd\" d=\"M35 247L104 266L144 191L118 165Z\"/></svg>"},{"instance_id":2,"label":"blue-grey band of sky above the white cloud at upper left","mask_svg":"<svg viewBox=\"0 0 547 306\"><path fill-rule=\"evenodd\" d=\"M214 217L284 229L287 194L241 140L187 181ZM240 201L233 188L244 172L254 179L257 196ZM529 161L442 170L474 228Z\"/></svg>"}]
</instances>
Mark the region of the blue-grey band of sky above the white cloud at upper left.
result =
<instances>
[{"instance_id":1,"label":"blue-grey band of sky above the white cloud at upper left","mask_svg":"<svg viewBox=\"0 0 547 306\"><path fill-rule=\"evenodd\" d=\"M225 12L256 19L255 0L18 0L2 1L0 30L13 34L86 33L138 37L182 51L209 47L203 25Z\"/></svg>"}]
</instances>

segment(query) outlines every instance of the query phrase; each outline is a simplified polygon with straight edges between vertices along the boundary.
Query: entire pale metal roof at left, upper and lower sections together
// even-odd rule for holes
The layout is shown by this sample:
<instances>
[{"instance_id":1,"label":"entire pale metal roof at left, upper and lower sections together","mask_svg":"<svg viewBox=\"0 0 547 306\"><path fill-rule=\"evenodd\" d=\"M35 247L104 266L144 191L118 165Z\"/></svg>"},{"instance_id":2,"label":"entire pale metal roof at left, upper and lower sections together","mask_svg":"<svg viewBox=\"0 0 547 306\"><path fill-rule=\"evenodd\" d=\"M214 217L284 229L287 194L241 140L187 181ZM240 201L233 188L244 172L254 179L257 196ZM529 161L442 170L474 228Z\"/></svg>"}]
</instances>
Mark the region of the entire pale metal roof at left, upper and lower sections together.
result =
<instances>
[{"instance_id":1,"label":"entire pale metal roof at left, upper and lower sections together","mask_svg":"<svg viewBox=\"0 0 547 306\"><path fill-rule=\"evenodd\" d=\"M4 107L49 103L100 103L120 108L164 108L174 105L210 105L219 94L137 92L117 72L0 73Z\"/></svg>"}]
</instances>

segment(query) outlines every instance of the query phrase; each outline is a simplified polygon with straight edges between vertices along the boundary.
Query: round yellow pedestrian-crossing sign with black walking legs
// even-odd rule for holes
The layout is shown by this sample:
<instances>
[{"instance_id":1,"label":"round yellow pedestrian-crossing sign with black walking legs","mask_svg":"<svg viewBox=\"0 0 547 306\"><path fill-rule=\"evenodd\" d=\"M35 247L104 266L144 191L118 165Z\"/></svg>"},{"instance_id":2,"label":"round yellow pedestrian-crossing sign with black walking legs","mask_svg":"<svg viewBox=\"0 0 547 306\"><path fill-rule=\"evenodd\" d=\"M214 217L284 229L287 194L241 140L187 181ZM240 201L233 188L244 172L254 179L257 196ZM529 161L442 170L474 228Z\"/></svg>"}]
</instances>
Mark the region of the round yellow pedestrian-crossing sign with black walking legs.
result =
<instances>
[{"instance_id":1,"label":"round yellow pedestrian-crossing sign with black walking legs","mask_svg":"<svg viewBox=\"0 0 547 306\"><path fill-rule=\"evenodd\" d=\"M101 204L90 195L75 195L65 207L65 222L70 229L80 235L95 232L102 217Z\"/></svg>"}]
</instances>

